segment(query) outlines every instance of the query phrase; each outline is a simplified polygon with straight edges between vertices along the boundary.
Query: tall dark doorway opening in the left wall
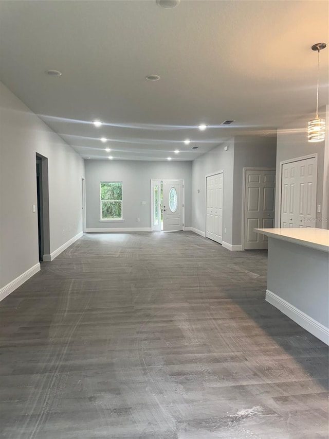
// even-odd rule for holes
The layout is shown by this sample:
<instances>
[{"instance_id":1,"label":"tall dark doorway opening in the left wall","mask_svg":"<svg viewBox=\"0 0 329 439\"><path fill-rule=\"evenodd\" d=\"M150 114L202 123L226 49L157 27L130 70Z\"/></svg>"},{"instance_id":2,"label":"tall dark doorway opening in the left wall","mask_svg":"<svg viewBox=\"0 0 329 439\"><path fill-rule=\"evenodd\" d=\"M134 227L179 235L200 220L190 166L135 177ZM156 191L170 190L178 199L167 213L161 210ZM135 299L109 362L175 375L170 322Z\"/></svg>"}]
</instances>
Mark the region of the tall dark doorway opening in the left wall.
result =
<instances>
[{"instance_id":1,"label":"tall dark doorway opening in the left wall","mask_svg":"<svg viewBox=\"0 0 329 439\"><path fill-rule=\"evenodd\" d=\"M50 260L48 159L36 154L36 200L38 207L39 260Z\"/></svg>"}]
</instances>

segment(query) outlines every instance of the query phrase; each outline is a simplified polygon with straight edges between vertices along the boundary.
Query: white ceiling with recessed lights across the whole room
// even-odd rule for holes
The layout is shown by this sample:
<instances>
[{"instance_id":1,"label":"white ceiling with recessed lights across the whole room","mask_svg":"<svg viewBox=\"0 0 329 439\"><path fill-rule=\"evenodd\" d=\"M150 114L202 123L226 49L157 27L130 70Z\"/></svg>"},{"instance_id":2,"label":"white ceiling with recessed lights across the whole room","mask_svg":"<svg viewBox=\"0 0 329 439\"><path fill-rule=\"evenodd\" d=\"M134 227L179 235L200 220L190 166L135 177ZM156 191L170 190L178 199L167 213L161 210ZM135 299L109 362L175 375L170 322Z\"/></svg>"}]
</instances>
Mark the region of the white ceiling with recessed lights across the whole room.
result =
<instances>
[{"instance_id":1,"label":"white ceiling with recessed lights across the whole room","mask_svg":"<svg viewBox=\"0 0 329 439\"><path fill-rule=\"evenodd\" d=\"M114 159L194 160L315 111L310 46L328 40L326 1L1 1L0 79L83 157L104 159L108 146Z\"/></svg>"}]
</instances>

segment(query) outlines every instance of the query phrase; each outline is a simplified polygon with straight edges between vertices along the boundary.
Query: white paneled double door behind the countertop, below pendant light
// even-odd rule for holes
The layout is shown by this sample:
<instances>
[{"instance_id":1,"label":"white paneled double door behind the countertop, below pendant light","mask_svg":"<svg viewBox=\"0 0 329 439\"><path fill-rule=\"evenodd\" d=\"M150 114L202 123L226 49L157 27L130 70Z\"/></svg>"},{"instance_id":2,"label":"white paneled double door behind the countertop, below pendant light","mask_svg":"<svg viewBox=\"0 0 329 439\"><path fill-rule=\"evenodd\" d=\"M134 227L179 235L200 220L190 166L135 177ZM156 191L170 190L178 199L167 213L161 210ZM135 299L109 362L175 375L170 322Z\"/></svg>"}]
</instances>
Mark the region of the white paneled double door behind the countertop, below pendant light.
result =
<instances>
[{"instance_id":1,"label":"white paneled double door behind the countertop, below pendant light","mask_svg":"<svg viewBox=\"0 0 329 439\"><path fill-rule=\"evenodd\" d=\"M281 182L280 227L315 227L316 158L283 164Z\"/></svg>"}]
</instances>

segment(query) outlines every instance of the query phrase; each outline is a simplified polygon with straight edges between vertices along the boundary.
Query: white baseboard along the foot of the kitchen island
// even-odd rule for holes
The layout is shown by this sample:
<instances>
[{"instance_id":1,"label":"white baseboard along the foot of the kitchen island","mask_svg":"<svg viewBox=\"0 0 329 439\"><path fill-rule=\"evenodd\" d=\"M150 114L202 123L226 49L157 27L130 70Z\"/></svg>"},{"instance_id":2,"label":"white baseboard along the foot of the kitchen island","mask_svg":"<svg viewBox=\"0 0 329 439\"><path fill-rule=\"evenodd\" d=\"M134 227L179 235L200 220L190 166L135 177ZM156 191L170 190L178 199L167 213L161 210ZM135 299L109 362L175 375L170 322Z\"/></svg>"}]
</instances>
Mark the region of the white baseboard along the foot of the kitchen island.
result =
<instances>
[{"instance_id":1,"label":"white baseboard along the foot of the kitchen island","mask_svg":"<svg viewBox=\"0 0 329 439\"><path fill-rule=\"evenodd\" d=\"M291 320L294 320L294 322L298 323L302 328L306 329L306 331L323 341L323 343L329 345L329 328L326 328L324 325L305 314L305 312L296 308L294 305L291 305L289 302L285 301L277 294L272 293L270 290L266 290L265 300L266 302L278 308Z\"/></svg>"}]
</instances>

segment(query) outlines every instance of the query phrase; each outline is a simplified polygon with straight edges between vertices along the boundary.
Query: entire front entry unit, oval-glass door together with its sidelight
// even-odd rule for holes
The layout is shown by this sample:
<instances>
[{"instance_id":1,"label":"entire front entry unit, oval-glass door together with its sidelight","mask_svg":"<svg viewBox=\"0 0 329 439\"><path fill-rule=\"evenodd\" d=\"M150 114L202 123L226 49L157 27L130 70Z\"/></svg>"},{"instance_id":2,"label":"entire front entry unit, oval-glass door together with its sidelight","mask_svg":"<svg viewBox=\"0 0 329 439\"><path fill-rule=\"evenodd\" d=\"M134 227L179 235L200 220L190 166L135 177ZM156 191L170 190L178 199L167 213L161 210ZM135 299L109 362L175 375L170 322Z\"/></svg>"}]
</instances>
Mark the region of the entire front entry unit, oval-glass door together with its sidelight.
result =
<instances>
[{"instance_id":1,"label":"entire front entry unit, oval-glass door together with its sidelight","mask_svg":"<svg viewBox=\"0 0 329 439\"><path fill-rule=\"evenodd\" d=\"M184 230L184 180L151 180L152 231Z\"/></svg>"}]
</instances>

